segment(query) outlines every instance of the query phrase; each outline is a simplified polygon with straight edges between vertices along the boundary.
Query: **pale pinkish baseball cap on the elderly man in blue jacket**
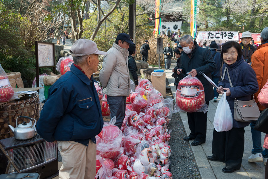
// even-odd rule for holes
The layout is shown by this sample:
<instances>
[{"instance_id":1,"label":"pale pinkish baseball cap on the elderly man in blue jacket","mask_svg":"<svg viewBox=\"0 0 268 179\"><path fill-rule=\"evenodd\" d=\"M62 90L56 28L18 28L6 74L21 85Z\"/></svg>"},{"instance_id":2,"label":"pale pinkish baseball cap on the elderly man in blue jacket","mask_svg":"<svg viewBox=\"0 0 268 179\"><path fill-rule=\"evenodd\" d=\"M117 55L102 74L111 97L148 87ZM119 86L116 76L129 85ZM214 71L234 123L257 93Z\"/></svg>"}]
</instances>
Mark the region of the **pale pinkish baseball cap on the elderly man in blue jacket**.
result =
<instances>
[{"instance_id":1,"label":"pale pinkish baseball cap on the elderly man in blue jacket","mask_svg":"<svg viewBox=\"0 0 268 179\"><path fill-rule=\"evenodd\" d=\"M107 55L107 52L98 50L97 44L88 39L78 39L70 49L73 57L81 57L85 55Z\"/></svg>"}]
</instances>

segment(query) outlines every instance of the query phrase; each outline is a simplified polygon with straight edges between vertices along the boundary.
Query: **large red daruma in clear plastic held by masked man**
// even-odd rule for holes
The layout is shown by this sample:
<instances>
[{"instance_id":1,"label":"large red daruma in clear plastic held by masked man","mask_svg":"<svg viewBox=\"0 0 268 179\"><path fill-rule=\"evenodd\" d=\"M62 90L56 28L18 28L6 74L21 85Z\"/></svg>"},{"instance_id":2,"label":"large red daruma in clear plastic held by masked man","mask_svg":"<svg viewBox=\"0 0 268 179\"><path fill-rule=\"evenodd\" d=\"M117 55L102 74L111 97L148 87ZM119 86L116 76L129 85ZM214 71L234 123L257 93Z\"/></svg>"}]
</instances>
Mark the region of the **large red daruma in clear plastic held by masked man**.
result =
<instances>
[{"instance_id":1,"label":"large red daruma in clear plastic held by masked man","mask_svg":"<svg viewBox=\"0 0 268 179\"><path fill-rule=\"evenodd\" d=\"M180 80L176 93L176 105L185 112L196 112L205 104L204 87L197 77Z\"/></svg>"}]
</instances>

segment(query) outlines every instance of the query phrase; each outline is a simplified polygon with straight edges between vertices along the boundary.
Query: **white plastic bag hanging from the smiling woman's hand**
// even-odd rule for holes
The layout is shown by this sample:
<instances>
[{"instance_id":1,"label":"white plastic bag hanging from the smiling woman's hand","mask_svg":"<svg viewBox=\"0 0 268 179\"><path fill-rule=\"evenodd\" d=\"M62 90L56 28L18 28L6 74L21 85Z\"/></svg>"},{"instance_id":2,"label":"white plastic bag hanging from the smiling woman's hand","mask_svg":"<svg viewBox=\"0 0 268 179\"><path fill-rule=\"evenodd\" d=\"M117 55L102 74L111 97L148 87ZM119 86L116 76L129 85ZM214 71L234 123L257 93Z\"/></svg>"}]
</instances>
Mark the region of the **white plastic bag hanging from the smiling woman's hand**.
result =
<instances>
[{"instance_id":1,"label":"white plastic bag hanging from the smiling woman's hand","mask_svg":"<svg viewBox=\"0 0 268 179\"><path fill-rule=\"evenodd\" d=\"M226 100L226 92L222 95L217 106L213 125L217 132L228 131L233 128L233 116Z\"/></svg>"}]
</instances>

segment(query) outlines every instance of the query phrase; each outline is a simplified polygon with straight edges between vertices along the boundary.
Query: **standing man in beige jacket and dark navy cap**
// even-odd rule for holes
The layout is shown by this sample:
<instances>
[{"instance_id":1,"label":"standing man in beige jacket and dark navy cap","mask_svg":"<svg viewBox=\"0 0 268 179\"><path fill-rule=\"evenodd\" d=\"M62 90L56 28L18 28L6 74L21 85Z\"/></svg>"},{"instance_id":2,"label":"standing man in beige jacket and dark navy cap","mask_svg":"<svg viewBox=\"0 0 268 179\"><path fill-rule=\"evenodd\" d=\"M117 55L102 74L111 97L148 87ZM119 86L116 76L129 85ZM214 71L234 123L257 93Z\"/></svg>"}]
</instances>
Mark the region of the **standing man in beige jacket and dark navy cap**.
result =
<instances>
[{"instance_id":1,"label":"standing man in beige jacket and dark navy cap","mask_svg":"<svg viewBox=\"0 0 268 179\"><path fill-rule=\"evenodd\" d=\"M126 98L130 94L130 77L128 70L129 45L134 44L129 35L121 33L117 35L112 48L103 58L102 69L99 72L99 80L107 94L107 103L110 107L111 118L116 116L115 125L121 128L125 117Z\"/></svg>"}]
</instances>

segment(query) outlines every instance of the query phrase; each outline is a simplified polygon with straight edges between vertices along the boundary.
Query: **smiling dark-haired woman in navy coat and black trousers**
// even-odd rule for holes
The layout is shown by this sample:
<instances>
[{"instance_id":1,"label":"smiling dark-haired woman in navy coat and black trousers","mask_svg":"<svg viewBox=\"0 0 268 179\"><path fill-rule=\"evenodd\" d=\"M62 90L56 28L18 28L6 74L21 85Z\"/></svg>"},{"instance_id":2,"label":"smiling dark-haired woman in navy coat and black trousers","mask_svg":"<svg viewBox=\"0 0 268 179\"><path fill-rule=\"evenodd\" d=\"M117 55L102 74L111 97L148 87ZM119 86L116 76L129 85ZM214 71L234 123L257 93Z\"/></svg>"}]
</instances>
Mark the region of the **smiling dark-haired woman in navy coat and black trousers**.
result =
<instances>
[{"instance_id":1,"label":"smiling dark-haired woman in navy coat and black trousers","mask_svg":"<svg viewBox=\"0 0 268 179\"><path fill-rule=\"evenodd\" d=\"M243 59L239 43L235 41L226 42L222 46L221 57L225 63L217 92L223 94L226 91L226 99L232 115L234 115L234 100L251 100L251 95L258 91L258 82L254 70ZM230 85L227 70L233 87ZM222 172L231 173L240 169L244 152L244 127L249 124L250 122L238 122L233 118L233 128L231 130L216 132L214 129L212 156L208 156L208 160L225 162Z\"/></svg>"}]
</instances>

